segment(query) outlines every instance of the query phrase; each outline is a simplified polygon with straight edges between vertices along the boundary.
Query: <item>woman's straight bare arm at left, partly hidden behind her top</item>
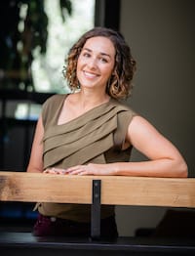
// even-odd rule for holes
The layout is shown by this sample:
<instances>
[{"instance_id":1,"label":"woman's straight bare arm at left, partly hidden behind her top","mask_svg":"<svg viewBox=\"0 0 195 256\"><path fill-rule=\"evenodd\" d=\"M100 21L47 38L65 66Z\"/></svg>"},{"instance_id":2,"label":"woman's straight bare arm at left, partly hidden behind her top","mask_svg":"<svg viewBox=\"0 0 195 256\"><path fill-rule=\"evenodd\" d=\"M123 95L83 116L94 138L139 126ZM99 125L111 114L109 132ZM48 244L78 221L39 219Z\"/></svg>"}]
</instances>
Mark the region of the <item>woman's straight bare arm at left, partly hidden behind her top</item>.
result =
<instances>
[{"instance_id":1,"label":"woman's straight bare arm at left, partly hidden behind her top","mask_svg":"<svg viewBox=\"0 0 195 256\"><path fill-rule=\"evenodd\" d=\"M44 135L44 127L43 127L42 117L39 117L36 130L35 130L27 172L43 172L43 160L42 160L43 135Z\"/></svg>"}]
</instances>

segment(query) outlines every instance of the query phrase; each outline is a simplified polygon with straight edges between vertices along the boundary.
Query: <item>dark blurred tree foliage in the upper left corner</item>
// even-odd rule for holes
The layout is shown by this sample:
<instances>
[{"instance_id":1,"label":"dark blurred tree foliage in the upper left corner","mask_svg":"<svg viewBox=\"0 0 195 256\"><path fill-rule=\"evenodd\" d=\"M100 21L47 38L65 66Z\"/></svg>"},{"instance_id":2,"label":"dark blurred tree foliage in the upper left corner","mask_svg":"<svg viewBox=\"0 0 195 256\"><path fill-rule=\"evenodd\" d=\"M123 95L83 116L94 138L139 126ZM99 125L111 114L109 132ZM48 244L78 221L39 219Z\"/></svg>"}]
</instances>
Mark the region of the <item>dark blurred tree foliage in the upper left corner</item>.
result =
<instances>
[{"instance_id":1,"label":"dark blurred tree foliage in the upper left corner","mask_svg":"<svg viewBox=\"0 0 195 256\"><path fill-rule=\"evenodd\" d=\"M71 15L71 1L59 0L59 5L64 21L63 9ZM0 87L16 89L23 82L26 88L31 84L34 49L39 47L42 55L47 50L48 17L44 0L2 1L0 26L0 81L3 81Z\"/></svg>"}]
</instances>

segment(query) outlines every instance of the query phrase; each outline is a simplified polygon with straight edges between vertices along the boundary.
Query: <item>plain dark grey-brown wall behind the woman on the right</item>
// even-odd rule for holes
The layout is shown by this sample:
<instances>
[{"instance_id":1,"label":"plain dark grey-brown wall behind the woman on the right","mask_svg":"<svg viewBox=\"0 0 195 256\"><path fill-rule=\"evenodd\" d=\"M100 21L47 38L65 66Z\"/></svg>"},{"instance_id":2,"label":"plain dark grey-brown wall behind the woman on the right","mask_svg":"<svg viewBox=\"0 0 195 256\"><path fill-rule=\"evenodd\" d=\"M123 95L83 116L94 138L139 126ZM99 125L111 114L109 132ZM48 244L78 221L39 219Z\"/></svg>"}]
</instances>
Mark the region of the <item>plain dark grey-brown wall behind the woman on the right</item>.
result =
<instances>
[{"instance_id":1,"label":"plain dark grey-brown wall behind the woman on the right","mask_svg":"<svg viewBox=\"0 0 195 256\"><path fill-rule=\"evenodd\" d=\"M129 104L170 139L195 177L195 2L122 0L120 30L137 60ZM132 160L144 157L134 151ZM163 196L163 195L162 195ZM155 227L166 208L117 207L121 235Z\"/></svg>"}]
</instances>

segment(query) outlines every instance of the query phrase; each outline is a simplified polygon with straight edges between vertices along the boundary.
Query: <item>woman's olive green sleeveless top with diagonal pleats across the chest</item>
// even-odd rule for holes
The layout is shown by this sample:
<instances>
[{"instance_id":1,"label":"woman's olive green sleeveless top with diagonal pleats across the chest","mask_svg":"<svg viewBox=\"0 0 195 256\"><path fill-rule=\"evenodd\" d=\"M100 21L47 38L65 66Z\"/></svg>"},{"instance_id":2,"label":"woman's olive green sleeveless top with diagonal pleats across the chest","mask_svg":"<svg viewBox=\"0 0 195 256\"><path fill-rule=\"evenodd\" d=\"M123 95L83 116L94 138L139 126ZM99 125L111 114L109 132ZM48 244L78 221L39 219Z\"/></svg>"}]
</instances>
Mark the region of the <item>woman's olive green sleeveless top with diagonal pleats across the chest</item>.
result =
<instances>
[{"instance_id":1,"label":"woman's olive green sleeveless top with diagonal pleats across the chest","mask_svg":"<svg viewBox=\"0 0 195 256\"><path fill-rule=\"evenodd\" d=\"M136 114L116 100L94 107L81 116L58 125L66 95L55 95L43 105L44 169L68 168L78 164L129 161L132 147L123 149L128 126ZM38 203L46 216L89 222L91 206L84 204ZM114 206L102 205L101 218L114 215Z\"/></svg>"}]
</instances>

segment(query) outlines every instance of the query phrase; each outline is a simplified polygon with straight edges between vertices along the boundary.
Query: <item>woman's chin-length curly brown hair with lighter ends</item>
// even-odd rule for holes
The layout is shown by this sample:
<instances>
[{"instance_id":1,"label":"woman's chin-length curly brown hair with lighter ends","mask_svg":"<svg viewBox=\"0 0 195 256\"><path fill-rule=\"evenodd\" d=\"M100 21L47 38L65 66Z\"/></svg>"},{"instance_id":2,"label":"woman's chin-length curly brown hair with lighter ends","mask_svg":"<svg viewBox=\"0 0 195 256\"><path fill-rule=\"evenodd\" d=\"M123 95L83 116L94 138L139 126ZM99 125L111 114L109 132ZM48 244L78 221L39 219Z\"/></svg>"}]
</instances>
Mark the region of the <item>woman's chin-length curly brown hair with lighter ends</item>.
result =
<instances>
[{"instance_id":1,"label":"woman's chin-length curly brown hair with lighter ends","mask_svg":"<svg viewBox=\"0 0 195 256\"><path fill-rule=\"evenodd\" d=\"M89 38L104 36L113 43L116 51L114 72L110 76L106 93L115 99L124 99L131 95L133 76L136 71L136 61L133 59L131 49L126 43L123 35L111 28L95 27L85 34L69 50L66 66L63 69L63 75L72 91L80 88L76 75L77 61L83 46Z\"/></svg>"}]
</instances>

